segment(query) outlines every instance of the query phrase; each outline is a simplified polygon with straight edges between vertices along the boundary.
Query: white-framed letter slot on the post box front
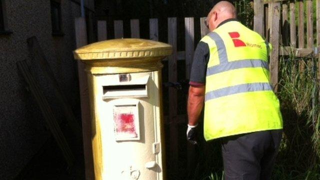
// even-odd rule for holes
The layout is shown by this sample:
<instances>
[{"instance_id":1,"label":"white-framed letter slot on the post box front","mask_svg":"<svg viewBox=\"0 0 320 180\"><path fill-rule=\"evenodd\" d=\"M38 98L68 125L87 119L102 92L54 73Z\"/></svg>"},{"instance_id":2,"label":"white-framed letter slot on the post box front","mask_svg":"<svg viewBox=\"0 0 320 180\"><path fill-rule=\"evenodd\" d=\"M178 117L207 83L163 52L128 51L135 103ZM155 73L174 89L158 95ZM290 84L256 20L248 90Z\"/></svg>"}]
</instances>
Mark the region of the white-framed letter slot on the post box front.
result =
<instances>
[{"instance_id":1,"label":"white-framed letter slot on the post box front","mask_svg":"<svg viewBox=\"0 0 320 180\"><path fill-rule=\"evenodd\" d=\"M147 97L147 82L149 76L144 76L130 82L103 85L102 99L120 97Z\"/></svg>"}]
</instances>

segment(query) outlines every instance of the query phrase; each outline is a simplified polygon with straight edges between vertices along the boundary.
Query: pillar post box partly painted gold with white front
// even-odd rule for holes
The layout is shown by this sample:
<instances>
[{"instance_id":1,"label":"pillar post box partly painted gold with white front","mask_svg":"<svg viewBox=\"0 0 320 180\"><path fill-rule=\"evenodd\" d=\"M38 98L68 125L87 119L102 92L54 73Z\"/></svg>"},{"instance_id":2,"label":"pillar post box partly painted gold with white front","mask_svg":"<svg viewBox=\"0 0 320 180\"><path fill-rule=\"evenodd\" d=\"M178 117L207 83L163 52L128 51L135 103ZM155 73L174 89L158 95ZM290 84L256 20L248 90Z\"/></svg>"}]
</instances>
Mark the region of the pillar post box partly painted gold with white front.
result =
<instances>
[{"instance_id":1,"label":"pillar post box partly painted gold with white front","mask_svg":"<svg viewBox=\"0 0 320 180\"><path fill-rule=\"evenodd\" d=\"M95 179L163 179L161 60L169 44L112 39L74 51L85 63Z\"/></svg>"}]
</instances>

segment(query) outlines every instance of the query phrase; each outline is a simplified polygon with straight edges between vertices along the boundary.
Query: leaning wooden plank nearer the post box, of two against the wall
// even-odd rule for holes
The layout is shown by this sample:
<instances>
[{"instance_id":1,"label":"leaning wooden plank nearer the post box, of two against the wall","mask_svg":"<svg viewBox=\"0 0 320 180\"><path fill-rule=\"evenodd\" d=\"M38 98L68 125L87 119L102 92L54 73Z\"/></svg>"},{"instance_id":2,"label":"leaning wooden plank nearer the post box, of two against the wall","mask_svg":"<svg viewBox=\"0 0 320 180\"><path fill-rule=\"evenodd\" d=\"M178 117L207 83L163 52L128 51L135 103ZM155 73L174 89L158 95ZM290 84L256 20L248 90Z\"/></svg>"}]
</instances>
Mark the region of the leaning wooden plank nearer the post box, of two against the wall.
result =
<instances>
[{"instance_id":1,"label":"leaning wooden plank nearer the post box, of two against the wall","mask_svg":"<svg viewBox=\"0 0 320 180\"><path fill-rule=\"evenodd\" d=\"M45 76L48 78L49 82L53 85L53 91L56 99L58 100L59 106L62 108L63 113L66 117L66 120L75 135L76 139L79 141L81 138L81 129L80 126L75 119L75 116L72 112L71 105L67 103L66 97L63 95L63 92L57 82L57 80L54 77L54 74L50 68L50 65L48 61L46 60L46 57L40 47L40 44L35 36L32 36L28 38L27 40L27 46L29 53L31 55L31 58L34 61L39 62Z\"/></svg>"}]
</instances>

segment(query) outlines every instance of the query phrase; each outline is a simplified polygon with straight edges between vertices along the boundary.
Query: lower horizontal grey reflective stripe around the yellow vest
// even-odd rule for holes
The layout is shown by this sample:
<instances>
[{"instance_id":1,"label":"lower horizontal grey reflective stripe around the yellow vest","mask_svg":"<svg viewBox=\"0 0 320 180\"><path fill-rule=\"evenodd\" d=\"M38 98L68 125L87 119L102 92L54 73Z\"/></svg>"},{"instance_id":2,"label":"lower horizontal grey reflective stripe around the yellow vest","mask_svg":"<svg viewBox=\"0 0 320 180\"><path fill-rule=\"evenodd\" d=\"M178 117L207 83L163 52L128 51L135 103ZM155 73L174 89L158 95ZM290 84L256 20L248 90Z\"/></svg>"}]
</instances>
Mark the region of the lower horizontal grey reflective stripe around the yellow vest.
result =
<instances>
[{"instance_id":1,"label":"lower horizontal grey reflective stripe around the yellow vest","mask_svg":"<svg viewBox=\"0 0 320 180\"><path fill-rule=\"evenodd\" d=\"M226 95L241 93L241 92L264 91L264 90L272 90L271 84L267 82L239 84L239 85L224 87L224 88L212 90L210 92L206 92L205 101L226 96Z\"/></svg>"}]
</instances>

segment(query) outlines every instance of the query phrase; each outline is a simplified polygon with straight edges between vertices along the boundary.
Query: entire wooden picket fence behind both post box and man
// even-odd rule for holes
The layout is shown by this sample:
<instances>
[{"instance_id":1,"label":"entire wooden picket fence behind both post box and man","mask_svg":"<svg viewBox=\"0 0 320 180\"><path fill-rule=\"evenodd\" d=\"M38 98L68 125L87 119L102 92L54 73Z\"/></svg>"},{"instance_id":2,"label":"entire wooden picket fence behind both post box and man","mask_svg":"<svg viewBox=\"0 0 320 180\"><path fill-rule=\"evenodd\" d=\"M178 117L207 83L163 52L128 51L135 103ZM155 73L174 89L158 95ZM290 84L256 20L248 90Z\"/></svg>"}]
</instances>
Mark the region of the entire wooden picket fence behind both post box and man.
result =
<instances>
[{"instance_id":1,"label":"entire wooden picket fence behind both post box and man","mask_svg":"<svg viewBox=\"0 0 320 180\"><path fill-rule=\"evenodd\" d=\"M313 2L314 1L314 2ZM320 47L320 0L304 1L284 1L284 0L253 0L254 18L253 28L255 31L265 36L272 44L270 53L270 72L271 83L275 86L278 82L278 57L279 55L288 55L293 53L296 57L318 57L318 47ZM305 10L304 10L305 3ZM312 3L315 3L314 7ZM313 18L313 11L316 10L316 18ZM305 14L305 15L304 15ZM313 22L316 21L314 31ZM195 22L199 22L195 24ZM297 22L297 23L296 23ZM304 28L306 22L306 28ZM124 37L123 21L114 20L114 38ZM149 19L149 39L159 40L158 19ZM208 33L208 29L204 24L204 17L195 19L194 17L184 18L184 50L177 50L177 32L183 29L177 29L177 18L167 18L167 43L173 47L172 54L164 59L167 63L168 81L175 84L177 75L185 73L185 79L189 79L190 67L194 52L194 34L196 32L203 37ZM195 28L199 27L199 28ZM97 37L98 41L106 40L110 35L107 34L107 23L103 20L97 21ZM296 30L297 29L297 30ZM306 30L306 31L305 31ZM316 35L314 36L314 32ZM306 34L306 35L305 35ZM140 37L139 19L130 19L130 36L132 38ZM113 38L113 37L112 37ZM316 38L316 43L314 43ZM177 62L185 61L185 71L177 68ZM317 65L320 67L320 63ZM301 65L303 68L303 65ZM318 68L319 69L319 68ZM165 88L164 88L165 89ZM186 124L187 118L185 114L178 114L178 90L177 88L168 87L168 110L167 116L164 117L164 123L168 126L169 138L166 139L170 149L168 163L170 165L170 173L178 176L178 125ZM89 143L89 142L88 142ZM85 147L84 147L85 148Z\"/></svg>"}]
</instances>

